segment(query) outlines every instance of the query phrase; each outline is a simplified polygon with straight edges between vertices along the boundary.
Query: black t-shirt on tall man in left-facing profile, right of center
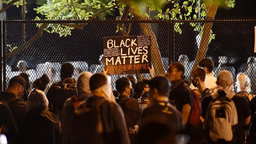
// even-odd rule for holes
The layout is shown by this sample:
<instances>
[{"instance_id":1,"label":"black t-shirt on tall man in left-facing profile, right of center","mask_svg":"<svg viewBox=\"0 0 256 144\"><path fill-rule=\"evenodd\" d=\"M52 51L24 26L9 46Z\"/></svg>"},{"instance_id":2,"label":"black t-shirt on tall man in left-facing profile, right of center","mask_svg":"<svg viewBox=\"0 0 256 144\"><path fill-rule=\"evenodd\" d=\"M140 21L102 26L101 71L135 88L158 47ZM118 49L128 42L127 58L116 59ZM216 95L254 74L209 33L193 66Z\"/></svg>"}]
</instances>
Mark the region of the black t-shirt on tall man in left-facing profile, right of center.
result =
<instances>
[{"instance_id":1,"label":"black t-shirt on tall man in left-facing profile, right of center","mask_svg":"<svg viewBox=\"0 0 256 144\"><path fill-rule=\"evenodd\" d=\"M185 104L193 105L193 93L184 81L177 81L171 87L169 99L175 107L182 112L182 106Z\"/></svg>"}]
</instances>

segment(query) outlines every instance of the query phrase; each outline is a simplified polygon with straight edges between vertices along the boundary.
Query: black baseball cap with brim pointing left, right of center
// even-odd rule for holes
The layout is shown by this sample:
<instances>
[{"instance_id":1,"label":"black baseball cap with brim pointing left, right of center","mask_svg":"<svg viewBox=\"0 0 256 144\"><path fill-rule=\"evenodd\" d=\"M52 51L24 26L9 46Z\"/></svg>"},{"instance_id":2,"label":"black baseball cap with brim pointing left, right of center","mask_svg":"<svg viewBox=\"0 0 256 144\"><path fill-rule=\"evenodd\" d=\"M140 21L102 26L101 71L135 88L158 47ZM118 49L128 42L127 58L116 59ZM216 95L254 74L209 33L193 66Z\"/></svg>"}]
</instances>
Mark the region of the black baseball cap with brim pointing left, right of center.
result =
<instances>
[{"instance_id":1,"label":"black baseball cap with brim pointing left, right of center","mask_svg":"<svg viewBox=\"0 0 256 144\"><path fill-rule=\"evenodd\" d=\"M169 93L171 82L165 76L156 76L152 79L143 79L143 82L150 86L150 89L157 89L161 93Z\"/></svg>"}]
</instances>

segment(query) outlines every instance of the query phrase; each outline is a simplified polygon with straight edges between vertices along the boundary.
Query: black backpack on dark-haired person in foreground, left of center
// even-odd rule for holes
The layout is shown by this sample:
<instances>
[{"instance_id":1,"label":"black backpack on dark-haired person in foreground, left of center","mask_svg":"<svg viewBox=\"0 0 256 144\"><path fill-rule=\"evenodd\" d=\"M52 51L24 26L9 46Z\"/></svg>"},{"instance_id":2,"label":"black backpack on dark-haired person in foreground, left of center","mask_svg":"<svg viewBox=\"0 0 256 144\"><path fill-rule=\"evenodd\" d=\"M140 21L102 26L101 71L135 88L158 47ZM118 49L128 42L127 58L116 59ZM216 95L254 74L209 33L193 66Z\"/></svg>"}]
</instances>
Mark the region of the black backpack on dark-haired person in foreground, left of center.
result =
<instances>
[{"instance_id":1,"label":"black backpack on dark-haired person in foreground, left of center","mask_svg":"<svg viewBox=\"0 0 256 144\"><path fill-rule=\"evenodd\" d=\"M102 98L94 105L83 103L74 111L71 124L72 144L104 143L99 109L105 101L106 99Z\"/></svg>"}]
</instances>

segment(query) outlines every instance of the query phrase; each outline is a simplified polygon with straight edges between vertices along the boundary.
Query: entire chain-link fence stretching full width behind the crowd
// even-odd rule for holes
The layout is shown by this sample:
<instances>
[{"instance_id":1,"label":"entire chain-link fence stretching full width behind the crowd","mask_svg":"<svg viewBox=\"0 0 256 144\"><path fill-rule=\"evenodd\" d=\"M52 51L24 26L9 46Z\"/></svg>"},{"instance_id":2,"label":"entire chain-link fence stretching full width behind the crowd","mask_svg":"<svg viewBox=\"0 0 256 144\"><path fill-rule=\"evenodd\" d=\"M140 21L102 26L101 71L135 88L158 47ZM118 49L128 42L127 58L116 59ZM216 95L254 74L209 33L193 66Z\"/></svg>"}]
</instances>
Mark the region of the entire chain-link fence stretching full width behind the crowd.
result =
<instances>
[{"instance_id":1,"label":"entire chain-link fence stretching full width behind the crowd","mask_svg":"<svg viewBox=\"0 0 256 144\"><path fill-rule=\"evenodd\" d=\"M18 19L18 20L17 20ZM22 25L25 24L25 30ZM83 71L103 70L103 38L124 35L151 35L152 63L163 62L164 73L169 63L180 61L189 81L194 61L212 59L214 76L221 70L232 72L234 79L244 72L251 79L256 94L256 55L254 26L256 20L20 20L3 21L3 84L21 72L29 74L30 83L47 74L48 87L60 81L60 67L70 62L74 78ZM25 39L24 39L25 38ZM207 48L207 50L206 50ZM198 52L199 49L199 52ZM161 57L154 51L160 50ZM198 53L198 54L197 54ZM198 55L198 56L197 56ZM161 66L160 66L161 67ZM114 82L126 75L115 75ZM135 78L140 76L133 75ZM143 74L149 78L149 74Z\"/></svg>"}]
</instances>

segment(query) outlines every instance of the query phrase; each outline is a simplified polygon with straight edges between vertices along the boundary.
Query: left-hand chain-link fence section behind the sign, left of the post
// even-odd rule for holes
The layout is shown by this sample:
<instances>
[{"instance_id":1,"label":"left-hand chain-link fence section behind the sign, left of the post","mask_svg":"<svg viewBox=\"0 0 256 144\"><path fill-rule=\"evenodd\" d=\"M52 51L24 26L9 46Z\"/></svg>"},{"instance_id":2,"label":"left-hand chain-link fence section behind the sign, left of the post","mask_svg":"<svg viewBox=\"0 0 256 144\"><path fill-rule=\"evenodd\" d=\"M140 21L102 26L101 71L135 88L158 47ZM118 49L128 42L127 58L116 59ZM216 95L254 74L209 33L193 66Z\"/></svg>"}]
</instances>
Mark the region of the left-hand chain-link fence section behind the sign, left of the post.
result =
<instances>
[{"instance_id":1,"label":"left-hand chain-link fence section behind the sign, left of the post","mask_svg":"<svg viewBox=\"0 0 256 144\"><path fill-rule=\"evenodd\" d=\"M75 79L83 71L102 72L103 38L123 35L151 35L152 61L163 61L164 68L158 70L163 74L169 65L170 26L167 20L4 20L3 89L21 72L29 75L30 84L47 74L50 87L61 80L60 68L65 62L74 65ZM154 52L158 50L161 56ZM111 76L112 85L122 76L126 75Z\"/></svg>"}]
</instances>

